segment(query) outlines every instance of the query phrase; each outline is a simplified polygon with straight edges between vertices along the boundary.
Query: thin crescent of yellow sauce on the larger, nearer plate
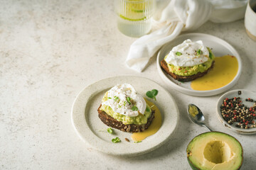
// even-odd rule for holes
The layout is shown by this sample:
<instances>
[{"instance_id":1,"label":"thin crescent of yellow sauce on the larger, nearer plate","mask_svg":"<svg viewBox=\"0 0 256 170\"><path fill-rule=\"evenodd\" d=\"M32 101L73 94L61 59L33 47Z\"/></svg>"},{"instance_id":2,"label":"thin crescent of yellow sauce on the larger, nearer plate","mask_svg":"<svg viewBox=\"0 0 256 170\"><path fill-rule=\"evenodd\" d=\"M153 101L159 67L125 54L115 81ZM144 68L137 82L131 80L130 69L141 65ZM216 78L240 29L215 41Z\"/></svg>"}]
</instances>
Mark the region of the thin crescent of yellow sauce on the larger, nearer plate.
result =
<instances>
[{"instance_id":1,"label":"thin crescent of yellow sauce on the larger, nearer plate","mask_svg":"<svg viewBox=\"0 0 256 170\"><path fill-rule=\"evenodd\" d=\"M146 98L144 98L144 99L145 99L146 103L150 106L151 110L155 111L155 113L154 113L155 117L154 117L151 125L149 125L149 128L147 128L143 132L132 133L132 140L134 140L135 142L142 141L146 137L154 135L161 127L161 113L159 111L159 108L157 108L156 105L154 105L154 103L152 103L151 101L146 100Z\"/></svg>"}]
</instances>

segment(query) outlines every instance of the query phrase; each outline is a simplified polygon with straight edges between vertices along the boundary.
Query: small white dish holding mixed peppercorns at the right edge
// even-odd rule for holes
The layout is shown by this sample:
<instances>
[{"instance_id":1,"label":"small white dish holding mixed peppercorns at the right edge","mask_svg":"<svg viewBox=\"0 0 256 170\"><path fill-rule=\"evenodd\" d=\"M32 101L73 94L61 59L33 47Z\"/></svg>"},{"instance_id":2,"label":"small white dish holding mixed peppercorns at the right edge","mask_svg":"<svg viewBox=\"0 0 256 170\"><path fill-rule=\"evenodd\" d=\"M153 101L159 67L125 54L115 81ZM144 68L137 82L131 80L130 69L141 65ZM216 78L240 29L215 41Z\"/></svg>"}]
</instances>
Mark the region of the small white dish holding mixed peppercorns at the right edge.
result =
<instances>
[{"instance_id":1,"label":"small white dish holding mixed peppercorns at the right edge","mask_svg":"<svg viewBox=\"0 0 256 170\"><path fill-rule=\"evenodd\" d=\"M238 91L241 91L242 93L238 95ZM225 98L234 98L234 97L240 97L242 100L242 103L245 104L247 107L253 106L253 102L250 101L245 101L246 98L252 98L254 101L256 100L256 91L249 91L249 90L243 90L243 89L238 89L238 90L233 90L233 91L228 91L227 93L223 94L218 99L217 107L216 107L216 113L217 117L220 120L220 122L229 130L233 130L234 132L238 132L240 134L245 134L245 135L251 135L256 133L256 128L250 128L250 129L241 129L235 127L235 123L232 125L229 125L222 117L221 112L220 112L220 106L223 104L223 100ZM256 120L255 120L256 122Z\"/></svg>"}]
</instances>

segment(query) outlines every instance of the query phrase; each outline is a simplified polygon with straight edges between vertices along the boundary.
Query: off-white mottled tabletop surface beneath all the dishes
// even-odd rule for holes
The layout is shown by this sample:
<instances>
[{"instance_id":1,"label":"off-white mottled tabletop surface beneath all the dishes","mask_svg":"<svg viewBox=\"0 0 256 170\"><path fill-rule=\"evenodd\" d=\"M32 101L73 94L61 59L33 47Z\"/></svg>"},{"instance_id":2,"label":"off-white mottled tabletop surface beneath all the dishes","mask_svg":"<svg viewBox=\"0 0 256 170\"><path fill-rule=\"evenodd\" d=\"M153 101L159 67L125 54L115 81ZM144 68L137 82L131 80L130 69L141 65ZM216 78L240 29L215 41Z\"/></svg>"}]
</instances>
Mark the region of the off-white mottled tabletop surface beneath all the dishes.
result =
<instances>
[{"instance_id":1,"label":"off-white mottled tabletop surface beneath all the dishes","mask_svg":"<svg viewBox=\"0 0 256 170\"><path fill-rule=\"evenodd\" d=\"M135 40L117 30L112 1L1 1L0 6L0 169L190 169L188 142L206 128L191 123L188 103L198 105L214 130L236 137L244 149L242 169L256 168L256 135L238 135L215 115L221 94L193 97L164 84L156 56L142 73L124 65ZM229 42L242 57L242 76L232 89L255 90L256 42L244 21L206 23L196 33ZM70 120L85 86L119 75L147 77L164 86L180 111L169 142L139 157L96 152L76 135Z\"/></svg>"}]
</instances>

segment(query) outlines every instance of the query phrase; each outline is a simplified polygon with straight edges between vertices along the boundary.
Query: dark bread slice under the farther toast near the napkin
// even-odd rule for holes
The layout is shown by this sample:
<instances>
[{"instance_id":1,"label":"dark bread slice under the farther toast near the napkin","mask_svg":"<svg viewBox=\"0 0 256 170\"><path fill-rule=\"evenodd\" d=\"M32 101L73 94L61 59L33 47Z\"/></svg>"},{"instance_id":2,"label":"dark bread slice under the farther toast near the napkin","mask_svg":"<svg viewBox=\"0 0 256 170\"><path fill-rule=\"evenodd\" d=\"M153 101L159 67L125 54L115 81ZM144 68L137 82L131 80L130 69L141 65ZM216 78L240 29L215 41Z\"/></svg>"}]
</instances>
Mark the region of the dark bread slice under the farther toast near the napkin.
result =
<instances>
[{"instance_id":1,"label":"dark bread slice under the farther toast near the napkin","mask_svg":"<svg viewBox=\"0 0 256 170\"><path fill-rule=\"evenodd\" d=\"M203 77L203 75L207 74L207 73L209 72L209 70L213 68L213 64L214 64L214 61L213 61L213 63L211 64L211 66L210 66L208 69L206 69L205 72L198 72L198 74L194 74L194 75L192 75L192 76L187 76L187 77L186 77L186 76L179 76L179 75L177 75L177 74L175 74L175 73L173 73L173 72L170 72L170 71L169 71L169 68L168 68L168 66L167 66L166 61L165 61L165 60L161 60L161 67L164 69L164 71L165 71L166 73L170 74L171 77L173 77L174 79L176 79L176 80L178 80L178 81L184 81L184 82L185 82L185 81L192 81L192 80L194 80L194 79L197 79L198 77Z\"/></svg>"}]
</instances>

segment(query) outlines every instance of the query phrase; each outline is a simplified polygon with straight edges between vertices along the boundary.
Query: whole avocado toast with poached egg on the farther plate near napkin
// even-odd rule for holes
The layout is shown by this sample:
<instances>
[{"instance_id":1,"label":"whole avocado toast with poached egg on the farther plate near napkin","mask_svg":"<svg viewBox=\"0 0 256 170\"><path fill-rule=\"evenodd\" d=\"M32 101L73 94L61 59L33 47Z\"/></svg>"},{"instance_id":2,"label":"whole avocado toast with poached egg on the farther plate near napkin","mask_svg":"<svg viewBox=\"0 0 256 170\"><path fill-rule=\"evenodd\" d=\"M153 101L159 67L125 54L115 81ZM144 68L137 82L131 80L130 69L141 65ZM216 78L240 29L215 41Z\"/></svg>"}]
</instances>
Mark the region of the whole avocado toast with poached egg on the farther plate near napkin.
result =
<instances>
[{"instance_id":1,"label":"whole avocado toast with poached egg on the farther plate near napkin","mask_svg":"<svg viewBox=\"0 0 256 170\"><path fill-rule=\"evenodd\" d=\"M174 47L160 64L174 79L192 81L207 74L214 66L214 59L213 52L203 42L185 40Z\"/></svg>"}]
</instances>

